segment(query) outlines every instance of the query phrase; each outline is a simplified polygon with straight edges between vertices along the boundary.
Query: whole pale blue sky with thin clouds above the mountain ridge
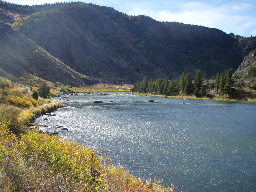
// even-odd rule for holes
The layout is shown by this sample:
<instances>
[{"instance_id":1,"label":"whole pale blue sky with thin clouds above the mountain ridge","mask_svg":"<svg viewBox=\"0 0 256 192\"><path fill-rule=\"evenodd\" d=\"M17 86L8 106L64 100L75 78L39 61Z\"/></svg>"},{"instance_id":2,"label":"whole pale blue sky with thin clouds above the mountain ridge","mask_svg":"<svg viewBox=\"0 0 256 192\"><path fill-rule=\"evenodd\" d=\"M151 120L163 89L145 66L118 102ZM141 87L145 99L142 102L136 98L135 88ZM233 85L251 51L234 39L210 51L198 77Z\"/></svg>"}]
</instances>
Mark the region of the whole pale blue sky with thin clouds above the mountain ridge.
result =
<instances>
[{"instance_id":1,"label":"whole pale blue sky with thin clouds above the mountain ridge","mask_svg":"<svg viewBox=\"0 0 256 192\"><path fill-rule=\"evenodd\" d=\"M73 0L78 1L78 0ZM217 28L240 36L256 36L256 0L80 0L112 7L128 15L146 15L157 21ZM41 5L56 0L9 0L19 5ZM70 1L65 1L70 2Z\"/></svg>"}]
</instances>

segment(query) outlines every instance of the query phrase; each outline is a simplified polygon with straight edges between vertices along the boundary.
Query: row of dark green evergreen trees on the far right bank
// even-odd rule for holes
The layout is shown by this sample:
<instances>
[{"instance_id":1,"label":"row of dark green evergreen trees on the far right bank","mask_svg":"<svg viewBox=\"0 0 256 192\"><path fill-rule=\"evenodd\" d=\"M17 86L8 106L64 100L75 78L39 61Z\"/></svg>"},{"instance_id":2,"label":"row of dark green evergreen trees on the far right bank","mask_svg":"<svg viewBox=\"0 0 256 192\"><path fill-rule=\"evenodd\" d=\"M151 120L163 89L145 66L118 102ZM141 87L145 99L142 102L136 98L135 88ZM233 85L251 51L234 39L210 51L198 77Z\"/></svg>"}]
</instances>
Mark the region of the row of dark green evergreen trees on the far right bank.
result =
<instances>
[{"instance_id":1,"label":"row of dark green evergreen trees on the far right bank","mask_svg":"<svg viewBox=\"0 0 256 192\"><path fill-rule=\"evenodd\" d=\"M217 93L232 95L234 88L232 88L234 81L232 80L232 68L225 70L225 72L217 72L216 76L211 79L215 82L213 84ZM206 70L203 75L201 70L196 71L194 80L189 73L186 75L182 73L178 79L169 80L168 78L157 78L156 80L147 80L144 76L142 81L137 81L131 89L132 92L150 93L157 95L175 96L175 95L195 95L196 97L206 96L206 85L203 81L206 80Z\"/></svg>"}]
</instances>

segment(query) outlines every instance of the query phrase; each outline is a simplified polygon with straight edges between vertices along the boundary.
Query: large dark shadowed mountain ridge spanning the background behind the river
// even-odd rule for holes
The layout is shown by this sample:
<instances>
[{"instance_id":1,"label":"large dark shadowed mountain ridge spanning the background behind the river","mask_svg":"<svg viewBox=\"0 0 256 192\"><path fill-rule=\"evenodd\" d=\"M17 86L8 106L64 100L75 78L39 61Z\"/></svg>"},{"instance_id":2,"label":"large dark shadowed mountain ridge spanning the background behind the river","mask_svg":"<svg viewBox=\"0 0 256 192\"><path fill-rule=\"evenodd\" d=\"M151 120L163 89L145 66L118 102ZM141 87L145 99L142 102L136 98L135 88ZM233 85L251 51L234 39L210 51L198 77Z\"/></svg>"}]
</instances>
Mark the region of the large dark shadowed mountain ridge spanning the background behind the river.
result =
<instances>
[{"instance_id":1,"label":"large dark shadowed mountain ridge spanning the background behind the river","mask_svg":"<svg viewBox=\"0 0 256 192\"><path fill-rule=\"evenodd\" d=\"M134 83L144 75L173 79L197 69L210 77L236 69L256 49L255 37L82 2L21 6L0 1L0 16L63 64L102 81Z\"/></svg>"}]
</instances>

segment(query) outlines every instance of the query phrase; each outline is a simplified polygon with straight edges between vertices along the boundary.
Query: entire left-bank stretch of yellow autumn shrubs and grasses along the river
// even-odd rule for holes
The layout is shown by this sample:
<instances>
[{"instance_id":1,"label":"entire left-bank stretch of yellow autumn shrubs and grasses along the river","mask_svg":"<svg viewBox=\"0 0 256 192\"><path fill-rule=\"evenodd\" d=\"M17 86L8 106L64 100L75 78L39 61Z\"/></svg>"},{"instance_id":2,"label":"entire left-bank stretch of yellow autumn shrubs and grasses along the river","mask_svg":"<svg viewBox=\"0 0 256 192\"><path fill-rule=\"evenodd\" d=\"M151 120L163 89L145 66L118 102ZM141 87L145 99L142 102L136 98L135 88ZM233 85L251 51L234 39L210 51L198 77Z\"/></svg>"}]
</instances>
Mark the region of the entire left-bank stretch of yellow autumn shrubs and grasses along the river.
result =
<instances>
[{"instance_id":1,"label":"entire left-bank stretch of yellow autumn shrubs and grasses along the river","mask_svg":"<svg viewBox=\"0 0 256 192\"><path fill-rule=\"evenodd\" d=\"M41 134L27 126L35 115L63 104L33 98L0 81L0 188L2 191L175 191L161 181L144 180L123 166L112 166L108 155ZM43 84L44 88L48 86ZM43 85L38 89L42 95ZM40 91L41 90L41 91ZM48 90L48 89L47 89ZM49 91L49 90L48 90ZM45 96L47 97L47 96Z\"/></svg>"}]
</instances>

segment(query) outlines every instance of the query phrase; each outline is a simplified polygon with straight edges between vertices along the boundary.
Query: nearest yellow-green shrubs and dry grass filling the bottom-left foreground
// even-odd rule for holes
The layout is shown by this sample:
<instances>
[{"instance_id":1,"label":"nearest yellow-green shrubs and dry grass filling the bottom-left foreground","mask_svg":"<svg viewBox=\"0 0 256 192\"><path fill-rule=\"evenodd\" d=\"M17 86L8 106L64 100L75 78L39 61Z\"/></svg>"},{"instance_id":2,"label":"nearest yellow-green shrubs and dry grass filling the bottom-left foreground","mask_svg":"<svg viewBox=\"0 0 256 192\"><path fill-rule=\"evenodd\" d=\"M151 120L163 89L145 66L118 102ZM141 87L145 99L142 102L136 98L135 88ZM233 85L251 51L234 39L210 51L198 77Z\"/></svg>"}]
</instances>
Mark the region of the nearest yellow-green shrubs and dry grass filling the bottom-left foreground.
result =
<instances>
[{"instance_id":1,"label":"nearest yellow-green shrubs and dry grass filling the bottom-left foreground","mask_svg":"<svg viewBox=\"0 0 256 192\"><path fill-rule=\"evenodd\" d=\"M156 179L134 177L112 159L94 149L40 134L20 139L0 123L0 188L7 191L156 191L170 192Z\"/></svg>"}]
</instances>

